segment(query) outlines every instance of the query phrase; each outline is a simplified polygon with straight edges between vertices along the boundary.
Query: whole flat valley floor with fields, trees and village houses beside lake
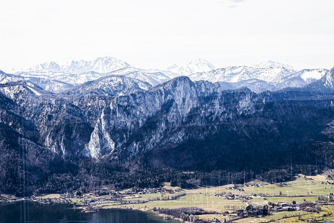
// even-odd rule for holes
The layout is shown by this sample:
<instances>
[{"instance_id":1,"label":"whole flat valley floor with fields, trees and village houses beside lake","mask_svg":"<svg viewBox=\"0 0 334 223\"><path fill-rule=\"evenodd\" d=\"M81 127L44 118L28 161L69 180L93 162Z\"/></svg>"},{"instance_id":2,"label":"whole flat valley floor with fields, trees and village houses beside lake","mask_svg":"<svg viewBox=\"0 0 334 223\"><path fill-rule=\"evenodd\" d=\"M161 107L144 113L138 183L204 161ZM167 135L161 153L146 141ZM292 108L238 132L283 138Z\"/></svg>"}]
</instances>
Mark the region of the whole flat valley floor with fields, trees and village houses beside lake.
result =
<instances>
[{"instance_id":1,"label":"whole flat valley floor with fields, trees and village houses beside lake","mask_svg":"<svg viewBox=\"0 0 334 223\"><path fill-rule=\"evenodd\" d=\"M29 198L0 195L0 202L29 200L42 204L71 204L84 212L104 208L139 209L154 211L166 219L178 218L170 213L191 213L191 208L197 208L198 214L191 218L193 222L293 222L292 219L308 222L311 218L334 219L332 185L334 182L324 173L313 177L298 176L289 182L255 180L242 185L194 189L171 187L165 183L159 188L133 187L120 191L101 188L87 193L74 191Z\"/></svg>"}]
</instances>

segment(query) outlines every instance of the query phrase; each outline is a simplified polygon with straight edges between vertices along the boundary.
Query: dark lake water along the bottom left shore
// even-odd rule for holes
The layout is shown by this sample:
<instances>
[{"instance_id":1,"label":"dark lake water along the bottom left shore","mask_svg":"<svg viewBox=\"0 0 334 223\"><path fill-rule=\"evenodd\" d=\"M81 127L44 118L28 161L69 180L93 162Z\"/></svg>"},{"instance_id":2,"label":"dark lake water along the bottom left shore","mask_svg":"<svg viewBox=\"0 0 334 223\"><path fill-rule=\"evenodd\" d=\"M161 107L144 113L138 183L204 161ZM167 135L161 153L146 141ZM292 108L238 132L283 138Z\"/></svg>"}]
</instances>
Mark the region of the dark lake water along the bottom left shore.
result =
<instances>
[{"instance_id":1,"label":"dark lake water along the bottom left shore","mask_svg":"<svg viewBox=\"0 0 334 223\"><path fill-rule=\"evenodd\" d=\"M102 209L84 213L72 205L39 204L18 201L0 204L0 223L180 223L175 219L164 220L150 211L130 209Z\"/></svg>"}]
</instances>

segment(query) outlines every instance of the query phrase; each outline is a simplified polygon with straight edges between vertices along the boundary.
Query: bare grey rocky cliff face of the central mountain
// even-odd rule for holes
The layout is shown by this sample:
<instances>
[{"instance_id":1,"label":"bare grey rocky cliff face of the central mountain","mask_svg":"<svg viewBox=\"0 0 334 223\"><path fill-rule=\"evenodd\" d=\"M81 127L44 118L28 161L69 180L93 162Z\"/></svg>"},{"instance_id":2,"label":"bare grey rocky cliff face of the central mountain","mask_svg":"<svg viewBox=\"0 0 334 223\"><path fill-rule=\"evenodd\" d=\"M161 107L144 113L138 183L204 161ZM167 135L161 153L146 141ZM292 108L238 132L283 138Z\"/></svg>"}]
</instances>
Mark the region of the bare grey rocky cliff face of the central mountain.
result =
<instances>
[{"instance_id":1,"label":"bare grey rocky cliff face of the central mountain","mask_svg":"<svg viewBox=\"0 0 334 223\"><path fill-rule=\"evenodd\" d=\"M115 97L98 119L86 155L132 157L216 132L217 125L261 110L266 96L219 83L175 78L148 91ZM196 134L188 129L204 128Z\"/></svg>"}]
</instances>

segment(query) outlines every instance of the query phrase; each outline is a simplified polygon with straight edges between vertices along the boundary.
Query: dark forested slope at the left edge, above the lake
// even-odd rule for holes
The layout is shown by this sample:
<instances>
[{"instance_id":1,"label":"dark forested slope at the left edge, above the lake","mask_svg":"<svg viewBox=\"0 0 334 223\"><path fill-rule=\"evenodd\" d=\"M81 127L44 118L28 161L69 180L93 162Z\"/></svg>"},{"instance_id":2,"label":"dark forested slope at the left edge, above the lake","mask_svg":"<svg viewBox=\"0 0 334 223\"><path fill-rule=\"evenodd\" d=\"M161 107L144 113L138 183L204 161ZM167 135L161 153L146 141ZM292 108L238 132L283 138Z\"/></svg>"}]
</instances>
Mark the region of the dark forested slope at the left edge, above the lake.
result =
<instances>
[{"instance_id":1,"label":"dark forested slope at the left edge, above the lake","mask_svg":"<svg viewBox=\"0 0 334 223\"><path fill-rule=\"evenodd\" d=\"M37 144L39 132L24 108L0 93L0 191L26 196L54 173L66 173L61 156Z\"/></svg>"}]
</instances>

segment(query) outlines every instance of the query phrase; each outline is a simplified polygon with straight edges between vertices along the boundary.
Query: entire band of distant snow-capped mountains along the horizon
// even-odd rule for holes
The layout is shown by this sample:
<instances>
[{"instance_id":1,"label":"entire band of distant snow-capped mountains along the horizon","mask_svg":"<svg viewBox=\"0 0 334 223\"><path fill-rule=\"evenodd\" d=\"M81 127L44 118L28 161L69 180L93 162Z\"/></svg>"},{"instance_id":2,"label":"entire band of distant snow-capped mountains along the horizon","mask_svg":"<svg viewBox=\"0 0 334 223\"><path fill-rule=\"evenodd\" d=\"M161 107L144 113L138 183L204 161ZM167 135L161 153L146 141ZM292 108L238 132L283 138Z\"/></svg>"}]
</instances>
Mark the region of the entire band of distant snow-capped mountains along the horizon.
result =
<instances>
[{"instance_id":1,"label":"entire band of distant snow-capped mountains along the horizon","mask_svg":"<svg viewBox=\"0 0 334 223\"><path fill-rule=\"evenodd\" d=\"M138 69L112 57L92 61L71 61L62 66L55 62L43 63L22 72L0 77L0 83L24 79L40 84L45 90L60 92L74 85L94 81L107 75L125 75L142 79L151 86L178 76L192 81L224 82L226 89L248 87L254 92L276 91L285 88L302 88L321 79L328 70L303 69L297 71L290 65L268 61L252 66L216 68L204 59L193 60L184 66L173 64L164 69ZM4 75L3 75L4 76Z\"/></svg>"}]
</instances>

